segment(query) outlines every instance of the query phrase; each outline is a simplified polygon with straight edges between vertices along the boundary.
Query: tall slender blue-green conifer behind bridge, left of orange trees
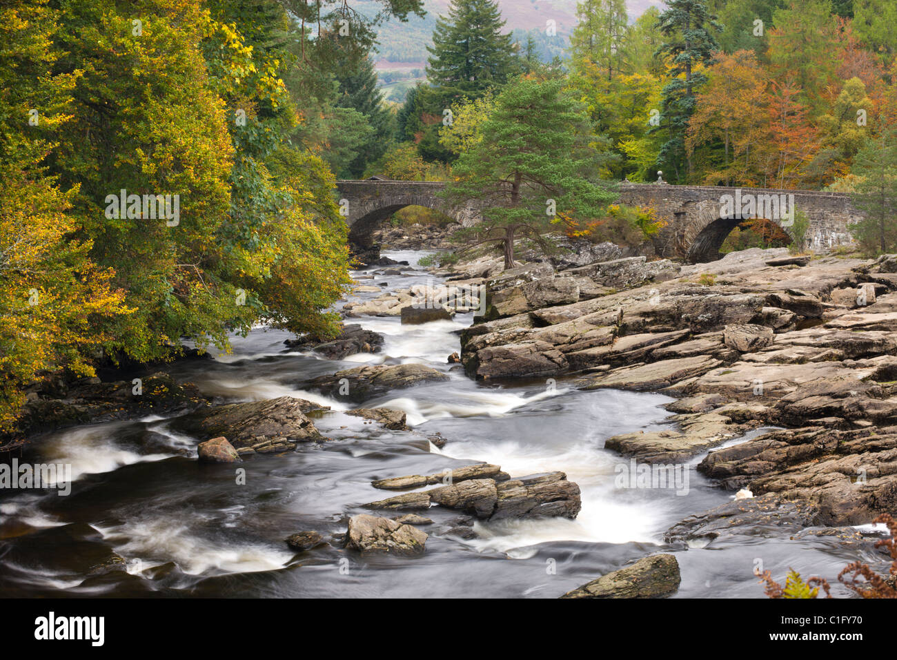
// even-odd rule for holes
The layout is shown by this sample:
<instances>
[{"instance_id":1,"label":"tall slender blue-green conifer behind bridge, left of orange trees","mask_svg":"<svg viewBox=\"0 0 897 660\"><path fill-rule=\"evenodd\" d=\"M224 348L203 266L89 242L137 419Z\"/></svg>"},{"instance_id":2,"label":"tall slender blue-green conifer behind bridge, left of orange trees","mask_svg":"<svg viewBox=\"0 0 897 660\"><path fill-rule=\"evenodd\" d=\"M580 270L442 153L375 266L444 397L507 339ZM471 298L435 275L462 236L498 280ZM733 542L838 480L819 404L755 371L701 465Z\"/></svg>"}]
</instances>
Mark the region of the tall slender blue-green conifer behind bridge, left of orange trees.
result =
<instances>
[{"instance_id":1,"label":"tall slender blue-green conifer behind bridge, left of orange trees","mask_svg":"<svg viewBox=\"0 0 897 660\"><path fill-rule=\"evenodd\" d=\"M707 10L706 0L669 0L666 12L660 14L660 32L666 37L658 53L671 58L670 81L663 91L663 121L656 130L666 131L666 142L660 147L658 166L675 172L675 181L683 182L692 170L685 154L685 130L695 106L695 87L707 76L695 68L709 65L717 50L714 31L719 31L716 16ZM668 176L668 174L667 174Z\"/></svg>"}]
</instances>

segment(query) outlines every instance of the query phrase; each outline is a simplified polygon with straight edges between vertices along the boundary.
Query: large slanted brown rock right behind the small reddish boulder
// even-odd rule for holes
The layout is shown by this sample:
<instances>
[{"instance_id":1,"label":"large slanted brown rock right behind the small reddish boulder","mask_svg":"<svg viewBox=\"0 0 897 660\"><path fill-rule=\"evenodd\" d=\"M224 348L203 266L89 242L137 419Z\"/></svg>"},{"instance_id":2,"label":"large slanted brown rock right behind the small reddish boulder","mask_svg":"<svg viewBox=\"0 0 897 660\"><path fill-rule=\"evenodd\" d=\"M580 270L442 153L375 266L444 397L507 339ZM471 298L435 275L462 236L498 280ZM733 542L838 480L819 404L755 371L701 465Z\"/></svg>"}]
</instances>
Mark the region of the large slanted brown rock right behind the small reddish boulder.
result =
<instances>
[{"instance_id":1,"label":"large slanted brown rock right behind the small reddish boulder","mask_svg":"<svg viewBox=\"0 0 897 660\"><path fill-rule=\"evenodd\" d=\"M319 408L293 397L231 403L197 410L174 420L172 427L200 438L224 436L238 451L251 448L256 453L279 453L295 449L299 443L327 440L305 415Z\"/></svg>"}]
</instances>

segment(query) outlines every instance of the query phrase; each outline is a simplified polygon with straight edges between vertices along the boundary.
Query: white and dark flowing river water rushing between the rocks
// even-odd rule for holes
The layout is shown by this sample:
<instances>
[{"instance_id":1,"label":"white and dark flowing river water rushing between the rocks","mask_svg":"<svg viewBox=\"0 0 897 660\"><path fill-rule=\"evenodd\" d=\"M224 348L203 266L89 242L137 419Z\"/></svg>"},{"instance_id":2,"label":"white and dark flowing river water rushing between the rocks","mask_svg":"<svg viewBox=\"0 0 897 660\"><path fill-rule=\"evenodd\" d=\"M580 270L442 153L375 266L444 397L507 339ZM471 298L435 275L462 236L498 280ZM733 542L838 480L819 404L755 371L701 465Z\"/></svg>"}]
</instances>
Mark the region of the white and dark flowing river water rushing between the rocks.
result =
<instances>
[{"instance_id":1,"label":"white and dark flowing river water rushing between the rocks","mask_svg":"<svg viewBox=\"0 0 897 660\"><path fill-rule=\"evenodd\" d=\"M387 252L416 264L424 252ZM370 271L376 273L377 271ZM357 274L361 275L361 273ZM432 282L422 268L375 275L384 290ZM361 294L361 299L376 294ZM40 438L22 462L72 465L68 496L57 491L0 494L0 594L13 596L274 596L274 597L556 597L630 559L674 551L683 581L675 597L762 595L753 577L758 559L774 576L789 567L830 581L856 559L826 537L791 540L764 532L700 548L669 547L663 532L688 515L729 501L731 493L687 466L688 488L617 488L621 465L604 449L609 436L666 427L649 393L580 392L564 381L515 385L474 383L451 369L458 331L472 321L403 326L396 317L364 317L386 337L382 352L323 359L284 348L289 335L257 329L235 337L231 354L185 360L170 373L207 395L265 400L292 395L325 404L315 418L331 440L295 453L233 465L196 462L196 438L148 417L66 429ZM430 365L449 376L388 393L364 406L405 410L422 434L388 431L344 414L350 408L302 388L309 378L359 364ZM425 440L439 432L442 449ZM477 523L475 539L432 534L418 559L361 558L332 545L302 553L283 539L316 530L345 532L348 516L388 493L370 481L427 474L471 462L493 462L512 476L565 471L582 490L575 521L543 519ZM457 512L439 507L439 523ZM126 570L91 575L118 553Z\"/></svg>"}]
</instances>

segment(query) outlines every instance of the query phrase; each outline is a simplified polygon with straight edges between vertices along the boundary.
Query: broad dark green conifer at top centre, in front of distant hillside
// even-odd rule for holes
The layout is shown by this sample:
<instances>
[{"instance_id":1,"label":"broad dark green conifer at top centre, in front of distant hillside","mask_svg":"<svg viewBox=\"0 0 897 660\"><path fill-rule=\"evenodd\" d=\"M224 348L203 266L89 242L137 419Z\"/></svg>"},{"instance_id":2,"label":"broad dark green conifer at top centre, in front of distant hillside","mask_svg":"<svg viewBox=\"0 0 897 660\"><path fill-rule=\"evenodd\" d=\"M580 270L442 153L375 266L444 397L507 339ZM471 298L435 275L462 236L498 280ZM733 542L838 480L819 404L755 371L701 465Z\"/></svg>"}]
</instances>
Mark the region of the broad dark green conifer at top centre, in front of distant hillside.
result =
<instances>
[{"instance_id":1,"label":"broad dark green conifer at top centre, in front of distant hillside","mask_svg":"<svg viewBox=\"0 0 897 660\"><path fill-rule=\"evenodd\" d=\"M517 58L510 34L501 32L504 24L492 0L452 0L448 16L437 20L427 77L440 114L453 101L473 101L508 82Z\"/></svg>"}]
</instances>

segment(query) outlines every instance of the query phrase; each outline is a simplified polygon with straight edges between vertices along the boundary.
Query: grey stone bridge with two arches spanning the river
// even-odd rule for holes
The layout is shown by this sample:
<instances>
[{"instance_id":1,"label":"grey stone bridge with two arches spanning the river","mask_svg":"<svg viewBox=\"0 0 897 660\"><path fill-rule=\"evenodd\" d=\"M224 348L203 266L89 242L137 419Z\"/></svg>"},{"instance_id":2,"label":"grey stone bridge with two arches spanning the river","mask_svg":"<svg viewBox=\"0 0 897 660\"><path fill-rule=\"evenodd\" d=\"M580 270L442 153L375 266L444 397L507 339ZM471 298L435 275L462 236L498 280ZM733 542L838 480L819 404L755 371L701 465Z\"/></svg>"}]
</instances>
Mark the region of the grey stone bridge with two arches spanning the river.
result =
<instances>
[{"instance_id":1,"label":"grey stone bridge with two arches spanning the river","mask_svg":"<svg viewBox=\"0 0 897 660\"><path fill-rule=\"evenodd\" d=\"M350 242L370 248L378 225L411 205L436 209L464 226L478 222L474 203L448 207L438 194L444 187L440 181L337 181ZM751 217L766 217L787 229L797 207L809 218L806 243L813 251L853 242L848 225L862 217L847 193L658 183L623 183L619 192L623 204L651 207L666 223L654 239L658 255L691 262L718 259L728 233Z\"/></svg>"}]
</instances>

